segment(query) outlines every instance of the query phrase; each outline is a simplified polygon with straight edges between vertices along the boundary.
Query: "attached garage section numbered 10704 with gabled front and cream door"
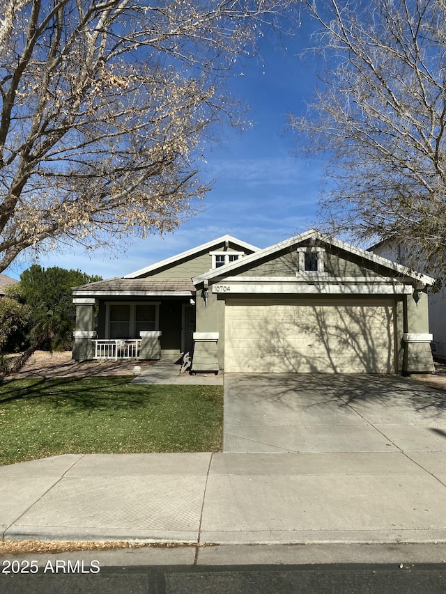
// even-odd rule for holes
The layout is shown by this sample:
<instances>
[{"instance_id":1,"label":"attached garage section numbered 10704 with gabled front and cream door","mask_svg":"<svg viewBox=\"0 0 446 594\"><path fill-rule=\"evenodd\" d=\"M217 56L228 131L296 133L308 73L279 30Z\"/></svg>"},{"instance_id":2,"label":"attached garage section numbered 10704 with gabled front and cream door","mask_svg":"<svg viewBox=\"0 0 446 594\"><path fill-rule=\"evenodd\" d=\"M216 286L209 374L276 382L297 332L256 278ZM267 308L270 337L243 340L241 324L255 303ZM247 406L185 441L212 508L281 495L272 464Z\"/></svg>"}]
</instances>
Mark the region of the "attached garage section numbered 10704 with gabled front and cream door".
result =
<instances>
[{"instance_id":1,"label":"attached garage section numbered 10704 with gabled front and cream door","mask_svg":"<svg viewBox=\"0 0 446 594\"><path fill-rule=\"evenodd\" d=\"M192 371L429 373L434 280L316 230L192 279Z\"/></svg>"}]
</instances>

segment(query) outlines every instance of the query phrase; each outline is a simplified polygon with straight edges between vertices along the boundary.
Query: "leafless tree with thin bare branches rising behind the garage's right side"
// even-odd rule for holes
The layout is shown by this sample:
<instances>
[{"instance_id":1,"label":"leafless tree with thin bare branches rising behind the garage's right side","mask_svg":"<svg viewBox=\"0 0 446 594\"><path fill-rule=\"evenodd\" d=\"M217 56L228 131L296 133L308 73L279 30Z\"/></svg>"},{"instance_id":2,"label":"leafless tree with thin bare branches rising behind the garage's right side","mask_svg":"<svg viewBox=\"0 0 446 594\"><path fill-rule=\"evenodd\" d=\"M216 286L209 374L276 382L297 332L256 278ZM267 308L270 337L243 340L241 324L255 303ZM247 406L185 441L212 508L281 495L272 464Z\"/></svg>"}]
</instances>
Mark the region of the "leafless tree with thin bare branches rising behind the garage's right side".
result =
<instances>
[{"instance_id":1,"label":"leafless tree with thin bare branches rising behind the garage's right side","mask_svg":"<svg viewBox=\"0 0 446 594\"><path fill-rule=\"evenodd\" d=\"M445 0L312 0L323 84L291 125L325 153L325 224L446 267Z\"/></svg>"}]
</instances>

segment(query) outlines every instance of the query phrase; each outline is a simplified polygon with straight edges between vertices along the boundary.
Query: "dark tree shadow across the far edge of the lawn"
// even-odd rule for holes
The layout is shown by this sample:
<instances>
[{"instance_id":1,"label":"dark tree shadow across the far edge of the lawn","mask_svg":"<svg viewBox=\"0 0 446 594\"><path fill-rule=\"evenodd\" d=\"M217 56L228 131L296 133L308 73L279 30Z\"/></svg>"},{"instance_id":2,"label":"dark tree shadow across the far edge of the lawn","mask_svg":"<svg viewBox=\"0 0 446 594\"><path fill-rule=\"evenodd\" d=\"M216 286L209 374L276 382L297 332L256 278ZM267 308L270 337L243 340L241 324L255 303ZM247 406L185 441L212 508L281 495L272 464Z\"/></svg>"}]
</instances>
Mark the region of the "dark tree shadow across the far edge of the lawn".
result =
<instances>
[{"instance_id":1,"label":"dark tree shadow across the far edge of the lawn","mask_svg":"<svg viewBox=\"0 0 446 594\"><path fill-rule=\"evenodd\" d=\"M19 400L51 399L53 407L72 409L135 409L147 405L151 400L156 405L159 391L150 386L130 384L132 377L113 377L109 380L86 380L77 377L61 379L41 377L26 380L26 385L16 382L0 384L0 405ZM22 380L17 380L22 384ZM3 398L3 394L5 397Z\"/></svg>"}]
</instances>

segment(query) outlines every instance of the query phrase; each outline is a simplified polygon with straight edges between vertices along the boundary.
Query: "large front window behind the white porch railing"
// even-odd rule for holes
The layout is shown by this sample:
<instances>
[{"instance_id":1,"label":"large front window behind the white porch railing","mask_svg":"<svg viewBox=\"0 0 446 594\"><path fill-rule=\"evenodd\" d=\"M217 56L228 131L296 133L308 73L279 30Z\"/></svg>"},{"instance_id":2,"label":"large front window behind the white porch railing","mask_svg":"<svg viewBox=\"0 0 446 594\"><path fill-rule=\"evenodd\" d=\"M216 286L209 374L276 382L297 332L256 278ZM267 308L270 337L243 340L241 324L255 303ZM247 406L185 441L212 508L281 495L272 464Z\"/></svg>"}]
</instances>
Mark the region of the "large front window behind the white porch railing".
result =
<instances>
[{"instance_id":1,"label":"large front window behind the white porch railing","mask_svg":"<svg viewBox=\"0 0 446 594\"><path fill-rule=\"evenodd\" d=\"M141 330L157 330L158 309L158 303L107 304L106 338L139 338Z\"/></svg>"}]
</instances>

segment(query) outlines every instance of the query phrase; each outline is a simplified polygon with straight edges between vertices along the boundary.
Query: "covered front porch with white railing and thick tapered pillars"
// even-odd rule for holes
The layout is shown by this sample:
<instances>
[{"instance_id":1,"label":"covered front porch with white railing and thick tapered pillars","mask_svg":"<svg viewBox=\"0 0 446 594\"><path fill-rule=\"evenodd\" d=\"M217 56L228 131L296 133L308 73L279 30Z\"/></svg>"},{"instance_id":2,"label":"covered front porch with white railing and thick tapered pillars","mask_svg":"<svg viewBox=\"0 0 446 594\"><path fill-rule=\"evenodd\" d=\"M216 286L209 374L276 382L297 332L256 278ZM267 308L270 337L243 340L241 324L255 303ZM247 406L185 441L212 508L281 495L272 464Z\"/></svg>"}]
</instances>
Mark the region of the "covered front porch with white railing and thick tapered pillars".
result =
<instances>
[{"instance_id":1,"label":"covered front porch with white railing and thick tapered pillars","mask_svg":"<svg viewBox=\"0 0 446 594\"><path fill-rule=\"evenodd\" d=\"M192 350L190 279L112 279L75 287L73 359L157 360Z\"/></svg>"}]
</instances>

